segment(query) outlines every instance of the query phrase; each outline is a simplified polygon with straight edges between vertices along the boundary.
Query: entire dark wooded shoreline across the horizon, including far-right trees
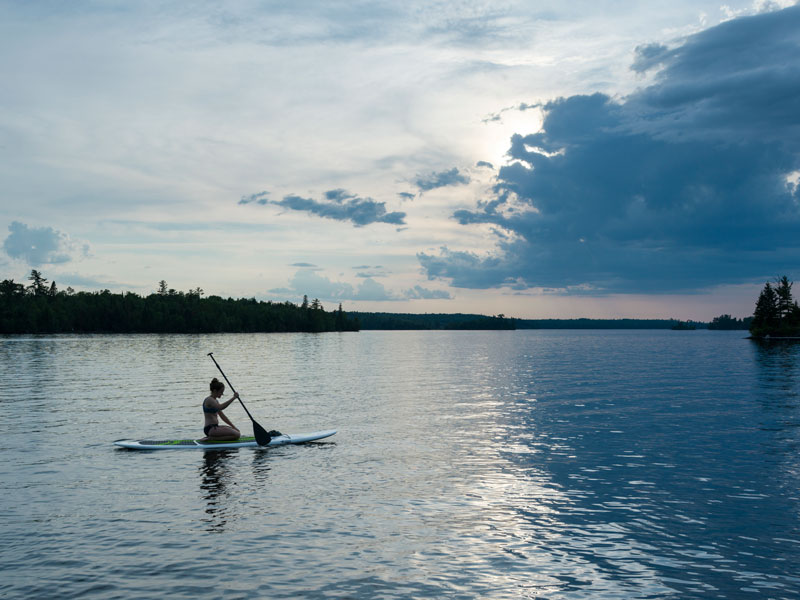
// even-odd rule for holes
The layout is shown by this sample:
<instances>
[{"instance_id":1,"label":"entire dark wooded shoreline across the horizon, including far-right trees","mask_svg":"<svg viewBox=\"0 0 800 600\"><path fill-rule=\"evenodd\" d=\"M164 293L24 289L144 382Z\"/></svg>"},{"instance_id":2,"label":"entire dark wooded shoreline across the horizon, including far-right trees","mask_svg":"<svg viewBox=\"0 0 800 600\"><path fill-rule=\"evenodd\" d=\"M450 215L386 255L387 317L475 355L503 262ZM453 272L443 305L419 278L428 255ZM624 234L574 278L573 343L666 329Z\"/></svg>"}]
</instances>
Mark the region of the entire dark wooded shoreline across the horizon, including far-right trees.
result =
<instances>
[{"instance_id":1,"label":"entire dark wooded shoreline across the horizon, including far-right trees","mask_svg":"<svg viewBox=\"0 0 800 600\"><path fill-rule=\"evenodd\" d=\"M176 291L162 280L156 292L76 292L60 290L40 271L29 284L0 282L0 334L5 333L247 333L322 332L360 329L662 329L675 319L517 319L505 315L350 313L339 305L326 312L308 296L291 302L255 298L204 297L201 288ZM750 330L754 338L800 337L800 307L793 283L784 276L767 282L752 317L724 314L707 325L714 330ZM697 326L705 324L694 323Z\"/></svg>"}]
</instances>

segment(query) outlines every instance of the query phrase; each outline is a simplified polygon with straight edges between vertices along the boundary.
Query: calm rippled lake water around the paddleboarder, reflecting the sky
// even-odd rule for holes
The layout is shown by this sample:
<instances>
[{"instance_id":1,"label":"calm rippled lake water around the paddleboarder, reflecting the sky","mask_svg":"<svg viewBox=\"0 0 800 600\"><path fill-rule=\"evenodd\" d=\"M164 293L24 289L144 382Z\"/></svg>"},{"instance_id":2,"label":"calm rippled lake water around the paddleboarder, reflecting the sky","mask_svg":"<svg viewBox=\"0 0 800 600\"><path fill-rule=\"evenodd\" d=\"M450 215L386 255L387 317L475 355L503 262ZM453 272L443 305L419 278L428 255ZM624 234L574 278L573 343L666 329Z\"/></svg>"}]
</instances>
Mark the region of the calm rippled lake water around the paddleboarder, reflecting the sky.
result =
<instances>
[{"instance_id":1,"label":"calm rippled lake water around the paddleboarder, reflecting the sky","mask_svg":"<svg viewBox=\"0 0 800 600\"><path fill-rule=\"evenodd\" d=\"M798 598L800 345L743 337L0 337L0 597ZM112 445L200 437L212 351L338 435Z\"/></svg>"}]
</instances>

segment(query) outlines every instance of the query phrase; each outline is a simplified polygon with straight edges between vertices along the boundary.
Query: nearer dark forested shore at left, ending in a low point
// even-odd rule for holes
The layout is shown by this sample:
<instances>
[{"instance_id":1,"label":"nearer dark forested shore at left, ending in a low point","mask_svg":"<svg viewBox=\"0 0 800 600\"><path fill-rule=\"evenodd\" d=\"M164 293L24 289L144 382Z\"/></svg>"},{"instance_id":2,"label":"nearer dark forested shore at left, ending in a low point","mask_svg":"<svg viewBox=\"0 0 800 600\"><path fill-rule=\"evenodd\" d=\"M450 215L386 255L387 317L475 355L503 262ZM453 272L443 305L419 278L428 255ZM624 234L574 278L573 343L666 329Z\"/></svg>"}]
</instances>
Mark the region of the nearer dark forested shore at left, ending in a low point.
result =
<instances>
[{"instance_id":1,"label":"nearer dark forested shore at left, ending in a low point","mask_svg":"<svg viewBox=\"0 0 800 600\"><path fill-rule=\"evenodd\" d=\"M159 282L158 290L132 292L59 290L37 270L30 283L0 282L0 333L255 333L358 331L343 310L326 312L318 299L301 305L255 298L203 297Z\"/></svg>"}]
</instances>

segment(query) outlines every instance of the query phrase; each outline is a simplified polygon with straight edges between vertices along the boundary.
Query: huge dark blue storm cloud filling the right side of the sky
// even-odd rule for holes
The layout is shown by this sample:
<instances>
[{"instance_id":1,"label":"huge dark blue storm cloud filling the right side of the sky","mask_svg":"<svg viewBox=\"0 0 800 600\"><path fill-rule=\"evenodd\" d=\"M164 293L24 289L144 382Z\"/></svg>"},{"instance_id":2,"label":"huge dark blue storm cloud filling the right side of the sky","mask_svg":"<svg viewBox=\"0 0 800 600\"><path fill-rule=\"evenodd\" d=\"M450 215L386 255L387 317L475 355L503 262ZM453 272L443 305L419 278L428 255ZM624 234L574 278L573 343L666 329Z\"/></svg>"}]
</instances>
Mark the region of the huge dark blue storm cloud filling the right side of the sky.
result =
<instances>
[{"instance_id":1,"label":"huge dark blue storm cloud filling the right side of the sky","mask_svg":"<svg viewBox=\"0 0 800 600\"><path fill-rule=\"evenodd\" d=\"M418 259L470 288L691 292L797 272L800 6L639 47L651 85L545 104L514 135L494 195L454 217L495 253Z\"/></svg>"}]
</instances>

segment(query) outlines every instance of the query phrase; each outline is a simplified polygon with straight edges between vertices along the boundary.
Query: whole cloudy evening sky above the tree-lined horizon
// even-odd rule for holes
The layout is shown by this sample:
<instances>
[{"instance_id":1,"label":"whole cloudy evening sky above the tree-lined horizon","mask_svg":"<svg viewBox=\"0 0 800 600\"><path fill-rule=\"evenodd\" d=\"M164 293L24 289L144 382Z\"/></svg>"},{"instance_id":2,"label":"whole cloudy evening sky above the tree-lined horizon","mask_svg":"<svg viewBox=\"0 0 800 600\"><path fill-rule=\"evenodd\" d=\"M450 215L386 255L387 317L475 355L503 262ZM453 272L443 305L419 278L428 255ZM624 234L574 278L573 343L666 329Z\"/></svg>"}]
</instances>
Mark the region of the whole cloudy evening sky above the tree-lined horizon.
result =
<instances>
[{"instance_id":1,"label":"whole cloudy evening sky above the tree-lined horizon","mask_svg":"<svg viewBox=\"0 0 800 600\"><path fill-rule=\"evenodd\" d=\"M0 0L0 278L752 314L800 276L790 0Z\"/></svg>"}]
</instances>

